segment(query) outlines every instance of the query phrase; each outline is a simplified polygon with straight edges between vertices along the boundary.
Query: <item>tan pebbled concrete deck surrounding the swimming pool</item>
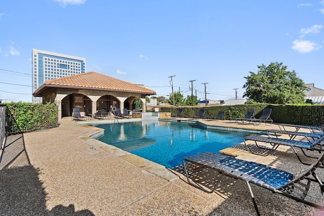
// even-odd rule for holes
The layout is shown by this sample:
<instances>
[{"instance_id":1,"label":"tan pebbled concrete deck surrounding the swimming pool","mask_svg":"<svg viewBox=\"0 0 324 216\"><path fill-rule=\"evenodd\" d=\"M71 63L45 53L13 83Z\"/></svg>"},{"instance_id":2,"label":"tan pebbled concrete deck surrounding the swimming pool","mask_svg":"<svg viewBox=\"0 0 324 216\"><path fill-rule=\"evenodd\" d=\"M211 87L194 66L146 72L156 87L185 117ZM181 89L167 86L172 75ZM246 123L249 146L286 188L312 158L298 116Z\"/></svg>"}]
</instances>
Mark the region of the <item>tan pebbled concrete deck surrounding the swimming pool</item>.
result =
<instances>
[{"instance_id":1,"label":"tan pebbled concrete deck surrounding the swimming pool","mask_svg":"<svg viewBox=\"0 0 324 216\"><path fill-rule=\"evenodd\" d=\"M278 129L275 124L199 121L221 127ZM79 124L69 117L59 122L57 128L24 134L30 164L0 170L0 215L256 214L243 181L225 178L217 192L207 194L188 185L180 172L89 138L100 133L100 128ZM280 147L267 157L238 149L226 151L290 172L306 167L289 148ZM316 171L324 179L324 170ZM252 190L261 215L323 213L254 185ZM309 194L311 197L306 199L323 204L318 188Z\"/></svg>"}]
</instances>

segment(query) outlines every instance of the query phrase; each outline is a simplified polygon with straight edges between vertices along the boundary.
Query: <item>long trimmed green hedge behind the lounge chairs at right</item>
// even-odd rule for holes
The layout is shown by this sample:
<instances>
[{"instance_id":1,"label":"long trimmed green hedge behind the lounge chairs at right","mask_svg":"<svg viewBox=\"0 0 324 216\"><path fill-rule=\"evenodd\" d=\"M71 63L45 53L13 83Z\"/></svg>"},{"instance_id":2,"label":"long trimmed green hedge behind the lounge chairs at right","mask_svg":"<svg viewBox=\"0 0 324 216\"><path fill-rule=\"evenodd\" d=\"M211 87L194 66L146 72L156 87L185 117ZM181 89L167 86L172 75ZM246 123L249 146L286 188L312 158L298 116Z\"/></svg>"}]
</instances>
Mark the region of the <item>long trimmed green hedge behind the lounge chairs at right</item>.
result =
<instances>
[{"instance_id":1,"label":"long trimmed green hedge behind the lounge chairs at right","mask_svg":"<svg viewBox=\"0 0 324 216\"><path fill-rule=\"evenodd\" d=\"M205 117L216 116L221 110L225 111L225 118L245 117L250 108L255 108L255 117L261 116L264 108L271 108L271 119L274 123L321 125L324 123L323 105L274 105L274 104L244 104L234 106L210 106L210 107L181 107L182 116L185 118L197 115L199 109L205 108ZM172 115L178 113L179 108L162 107L161 112L171 112Z\"/></svg>"}]
</instances>

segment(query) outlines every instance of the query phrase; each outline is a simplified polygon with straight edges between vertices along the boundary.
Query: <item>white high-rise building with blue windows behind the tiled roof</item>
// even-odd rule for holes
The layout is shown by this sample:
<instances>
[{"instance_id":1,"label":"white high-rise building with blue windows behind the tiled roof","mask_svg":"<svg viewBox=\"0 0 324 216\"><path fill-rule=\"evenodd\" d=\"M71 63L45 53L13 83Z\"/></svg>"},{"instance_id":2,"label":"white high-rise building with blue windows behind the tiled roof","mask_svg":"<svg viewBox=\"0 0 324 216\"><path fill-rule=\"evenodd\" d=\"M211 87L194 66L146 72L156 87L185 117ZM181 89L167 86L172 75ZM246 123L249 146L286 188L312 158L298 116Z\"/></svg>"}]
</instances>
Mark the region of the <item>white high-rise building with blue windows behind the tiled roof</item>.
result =
<instances>
[{"instance_id":1,"label":"white high-rise building with blue windows behind the tiled roof","mask_svg":"<svg viewBox=\"0 0 324 216\"><path fill-rule=\"evenodd\" d=\"M32 92L45 81L86 72L86 59L32 49ZM33 103L42 98L33 97Z\"/></svg>"}]
</instances>

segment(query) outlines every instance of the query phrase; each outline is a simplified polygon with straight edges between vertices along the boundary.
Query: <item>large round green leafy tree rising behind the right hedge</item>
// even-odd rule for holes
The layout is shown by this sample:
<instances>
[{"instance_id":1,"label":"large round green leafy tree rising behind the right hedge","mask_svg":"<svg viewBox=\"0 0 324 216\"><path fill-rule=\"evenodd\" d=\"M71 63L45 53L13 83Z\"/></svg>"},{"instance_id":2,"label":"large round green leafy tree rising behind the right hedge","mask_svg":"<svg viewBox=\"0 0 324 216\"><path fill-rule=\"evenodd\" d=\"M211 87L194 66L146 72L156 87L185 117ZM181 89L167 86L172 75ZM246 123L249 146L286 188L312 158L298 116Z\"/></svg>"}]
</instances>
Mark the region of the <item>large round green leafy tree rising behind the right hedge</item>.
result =
<instances>
[{"instance_id":1,"label":"large round green leafy tree rising behind the right hedge","mask_svg":"<svg viewBox=\"0 0 324 216\"><path fill-rule=\"evenodd\" d=\"M249 72L243 88L243 97L258 103L298 104L304 103L305 83L297 77L296 72L287 71L282 62L271 62L269 66L258 66L258 73Z\"/></svg>"}]
</instances>

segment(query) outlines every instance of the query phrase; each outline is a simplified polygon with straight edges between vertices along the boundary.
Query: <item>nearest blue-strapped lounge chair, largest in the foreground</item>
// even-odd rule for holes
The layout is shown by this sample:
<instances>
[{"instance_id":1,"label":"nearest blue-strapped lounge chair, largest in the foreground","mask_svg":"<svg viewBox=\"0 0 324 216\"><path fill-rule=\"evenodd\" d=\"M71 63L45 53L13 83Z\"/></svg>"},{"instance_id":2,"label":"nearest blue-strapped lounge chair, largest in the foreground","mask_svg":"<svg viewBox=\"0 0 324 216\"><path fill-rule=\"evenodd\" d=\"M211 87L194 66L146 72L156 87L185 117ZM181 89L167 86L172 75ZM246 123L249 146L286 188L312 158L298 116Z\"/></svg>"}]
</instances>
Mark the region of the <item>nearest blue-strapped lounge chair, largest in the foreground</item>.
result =
<instances>
[{"instance_id":1,"label":"nearest blue-strapped lounge chair, largest in the foreground","mask_svg":"<svg viewBox=\"0 0 324 216\"><path fill-rule=\"evenodd\" d=\"M240 160L234 157L219 155L211 152L205 152L184 158L183 166L188 183L193 187L196 187L207 193L214 192L218 185L215 184L215 186L211 190L203 188L197 182L200 178L198 174L195 175L197 171L195 171L194 168L200 168L201 170L201 166L203 166L218 171L220 174L219 181L221 181L221 178L223 176L229 176L234 179L245 181L250 191L254 208L257 214L260 215L250 184L255 184L262 188L268 189L273 193L278 193L292 198L298 202L302 202L320 210L324 210L324 206L320 206L305 200L305 197L310 188L311 181L318 183L321 193L324 192L324 186L315 172L316 168L320 166L323 161L324 156L323 154L321 154L321 156L311 166L298 172L297 174L292 174L288 171L272 168L264 164ZM190 166L190 164L194 164L194 166ZM192 176L195 176L195 179L193 179L194 183L189 179L190 174L192 174ZM311 176L313 178L309 178ZM212 176L211 178L213 177L214 176Z\"/></svg>"}]
</instances>

